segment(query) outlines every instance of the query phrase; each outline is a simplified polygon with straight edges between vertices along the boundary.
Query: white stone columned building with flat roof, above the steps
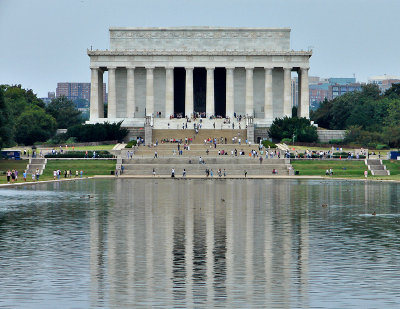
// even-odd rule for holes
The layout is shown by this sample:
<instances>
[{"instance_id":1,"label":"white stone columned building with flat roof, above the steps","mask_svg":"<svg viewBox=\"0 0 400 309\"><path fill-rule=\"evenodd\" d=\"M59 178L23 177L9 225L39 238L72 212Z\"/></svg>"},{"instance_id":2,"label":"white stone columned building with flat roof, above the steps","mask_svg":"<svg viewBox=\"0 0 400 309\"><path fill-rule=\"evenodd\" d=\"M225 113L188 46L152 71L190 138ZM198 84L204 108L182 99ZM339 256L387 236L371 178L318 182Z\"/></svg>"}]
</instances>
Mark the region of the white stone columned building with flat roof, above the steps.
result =
<instances>
[{"instance_id":1,"label":"white stone columned building with flat roof, above the steps","mask_svg":"<svg viewBox=\"0 0 400 309\"><path fill-rule=\"evenodd\" d=\"M287 28L111 28L110 50L88 55L89 123L135 126L145 116L170 120L202 113L252 116L268 126L291 115L291 72L299 78L298 114L309 117L311 52L290 50ZM107 118L99 87L105 71Z\"/></svg>"}]
</instances>

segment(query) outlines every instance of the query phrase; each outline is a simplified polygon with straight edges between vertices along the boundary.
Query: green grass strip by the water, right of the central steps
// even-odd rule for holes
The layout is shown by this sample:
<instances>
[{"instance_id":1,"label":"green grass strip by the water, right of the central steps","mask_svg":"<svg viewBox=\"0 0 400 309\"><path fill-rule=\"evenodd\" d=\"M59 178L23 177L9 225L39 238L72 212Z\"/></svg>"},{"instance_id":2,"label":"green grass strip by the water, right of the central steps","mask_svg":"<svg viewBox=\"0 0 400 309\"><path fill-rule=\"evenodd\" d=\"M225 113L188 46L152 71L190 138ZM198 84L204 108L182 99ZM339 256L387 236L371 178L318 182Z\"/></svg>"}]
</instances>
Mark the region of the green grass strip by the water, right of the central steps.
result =
<instances>
[{"instance_id":1,"label":"green grass strip by the water, right of the central steps","mask_svg":"<svg viewBox=\"0 0 400 309\"><path fill-rule=\"evenodd\" d=\"M364 161L350 160L291 160L291 163L303 176L325 176L326 170L331 168L333 177L362 178L367 168Z\"/></svg>"}]
</instances>

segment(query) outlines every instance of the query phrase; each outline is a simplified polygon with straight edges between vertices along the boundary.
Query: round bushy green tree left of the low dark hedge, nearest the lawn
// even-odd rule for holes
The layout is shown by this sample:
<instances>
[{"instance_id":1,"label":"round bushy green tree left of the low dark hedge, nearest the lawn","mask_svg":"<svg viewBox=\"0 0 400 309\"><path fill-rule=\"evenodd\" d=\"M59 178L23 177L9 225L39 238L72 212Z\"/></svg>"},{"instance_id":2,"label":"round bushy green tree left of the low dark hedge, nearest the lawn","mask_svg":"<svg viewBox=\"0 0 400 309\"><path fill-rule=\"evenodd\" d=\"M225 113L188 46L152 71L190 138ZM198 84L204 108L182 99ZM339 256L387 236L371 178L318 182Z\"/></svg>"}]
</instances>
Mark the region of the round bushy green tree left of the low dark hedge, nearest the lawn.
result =
<instances>
[{"instance_id":1,"label":"round bushy green tree left of the low dark hedge, nearest the lawn","mask_svg":"<svg viewBox=\"0 0 400 309\"><path fill-rule=\"evenodd\" d=\"M24 145L45 142L54 135L56 127L56 120L51 115L38 106L32 106L16 119L15 139Z\"/></svg>"}]
</instances>

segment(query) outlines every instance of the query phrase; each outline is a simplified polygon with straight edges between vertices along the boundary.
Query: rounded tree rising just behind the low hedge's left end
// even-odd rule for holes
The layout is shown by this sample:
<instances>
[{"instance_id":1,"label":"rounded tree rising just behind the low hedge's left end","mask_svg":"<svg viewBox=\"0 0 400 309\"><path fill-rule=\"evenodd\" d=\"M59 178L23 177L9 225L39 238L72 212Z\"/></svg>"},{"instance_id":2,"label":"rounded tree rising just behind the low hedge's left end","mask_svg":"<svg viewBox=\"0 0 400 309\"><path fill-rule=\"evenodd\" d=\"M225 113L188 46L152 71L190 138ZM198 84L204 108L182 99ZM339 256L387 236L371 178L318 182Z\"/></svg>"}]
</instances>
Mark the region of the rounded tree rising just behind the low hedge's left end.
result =
<instances>
[{"instance_id":1,"label":"rounded tree rising just behind the low hedge's left end","mask_svg":"<svg viewBox=\"0 0 400 309\"><path fill-rule=\"evenodd\" d=\"M74 102L61 96L53 99L46 107L57 122L58 129L67 129L82 122L81 112L75 107Z\"/></svg>"}]
</instances>

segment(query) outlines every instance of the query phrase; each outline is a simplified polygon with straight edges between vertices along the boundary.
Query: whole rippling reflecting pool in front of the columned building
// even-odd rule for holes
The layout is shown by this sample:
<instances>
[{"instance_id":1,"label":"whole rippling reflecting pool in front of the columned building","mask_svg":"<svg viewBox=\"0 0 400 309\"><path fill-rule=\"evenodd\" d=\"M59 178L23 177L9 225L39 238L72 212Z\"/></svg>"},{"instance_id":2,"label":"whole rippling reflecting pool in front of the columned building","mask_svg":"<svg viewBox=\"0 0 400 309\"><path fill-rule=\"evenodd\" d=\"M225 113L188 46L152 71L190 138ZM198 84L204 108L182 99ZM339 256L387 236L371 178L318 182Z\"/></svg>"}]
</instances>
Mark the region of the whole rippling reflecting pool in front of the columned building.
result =
<instances>
[{"instance_id":1,"label":"whole rippling reflecting pool in front of the columned building","mask_svg":"<svg viewBox=\"0 0 400 309\"><path fill-rule=\"evenodd\" d=\"M1 189L0 308L398 308L399 205L364 181Z\"/></svg>"}]
</instances>

